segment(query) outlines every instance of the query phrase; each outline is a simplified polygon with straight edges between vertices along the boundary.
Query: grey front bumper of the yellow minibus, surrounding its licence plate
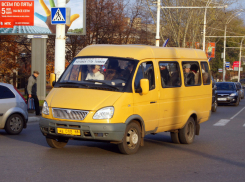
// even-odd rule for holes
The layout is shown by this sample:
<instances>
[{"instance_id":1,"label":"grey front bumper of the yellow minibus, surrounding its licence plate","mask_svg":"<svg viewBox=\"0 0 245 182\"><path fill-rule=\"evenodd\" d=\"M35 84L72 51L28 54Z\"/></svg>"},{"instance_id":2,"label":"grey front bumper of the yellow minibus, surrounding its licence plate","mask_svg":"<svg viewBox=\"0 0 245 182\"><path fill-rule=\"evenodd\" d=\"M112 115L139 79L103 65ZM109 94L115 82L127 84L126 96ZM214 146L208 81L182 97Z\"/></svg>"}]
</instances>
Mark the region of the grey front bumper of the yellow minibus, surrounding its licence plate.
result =
<instances>
[{"instance_id":1,"label":"grey front bumper of the yellow minibus, surrounding its licence plate","mask_svg":"<svg viewBox=\"0 0 245 182\"><path fill-rule=\"evenodd\" d=\"M78 123L69 121L57 121L41 118L39 122L44 136L59 138L66 137L80 140L122 141L126 124L110 123ZM57 133L57 128L80 130L81 135L66 135Z\"/></svg>"}]
</instances>

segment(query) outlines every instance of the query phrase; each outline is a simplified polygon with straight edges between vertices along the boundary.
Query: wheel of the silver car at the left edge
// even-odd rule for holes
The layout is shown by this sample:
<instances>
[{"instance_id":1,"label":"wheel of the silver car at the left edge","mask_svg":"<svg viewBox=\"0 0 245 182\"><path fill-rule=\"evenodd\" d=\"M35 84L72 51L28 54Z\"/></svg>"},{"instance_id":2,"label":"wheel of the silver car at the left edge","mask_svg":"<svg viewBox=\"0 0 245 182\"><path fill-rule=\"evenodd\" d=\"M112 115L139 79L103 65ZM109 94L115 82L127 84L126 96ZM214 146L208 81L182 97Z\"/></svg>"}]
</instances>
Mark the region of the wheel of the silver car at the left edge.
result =
<instances>
[{"instance_id":1,"label":"wheel of the silver car at the left edge","mask_svg":"<svg viewBox=\"0 0 245 182\"><path fill-rule=\"evenodd\" d=\"M11 115L5 123L5 131L10 135L18 135L23 130L24 120L21 115Z\"/></svg>"}]
</instances>

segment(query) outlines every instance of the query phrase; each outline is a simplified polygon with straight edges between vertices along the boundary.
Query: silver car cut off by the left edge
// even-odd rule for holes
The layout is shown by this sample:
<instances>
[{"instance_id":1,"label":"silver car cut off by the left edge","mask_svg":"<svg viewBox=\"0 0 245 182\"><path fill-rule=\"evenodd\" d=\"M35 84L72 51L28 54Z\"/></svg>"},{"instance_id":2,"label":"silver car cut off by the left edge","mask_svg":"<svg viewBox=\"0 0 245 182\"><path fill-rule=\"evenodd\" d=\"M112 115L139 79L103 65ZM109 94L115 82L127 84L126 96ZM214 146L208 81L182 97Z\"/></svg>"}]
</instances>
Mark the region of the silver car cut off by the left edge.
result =
<instances>
[{"instance_id":1,"label":"silver car cut off by the left edge","mask_svg":"<svg viewBox=\"0 0 245 182\"><path fill-rule=\"evenodd\" d=\"M13 85L0 83L0 129L11 135L26 128L28 111L25 98Z\"/></svg>"}]
</instances>

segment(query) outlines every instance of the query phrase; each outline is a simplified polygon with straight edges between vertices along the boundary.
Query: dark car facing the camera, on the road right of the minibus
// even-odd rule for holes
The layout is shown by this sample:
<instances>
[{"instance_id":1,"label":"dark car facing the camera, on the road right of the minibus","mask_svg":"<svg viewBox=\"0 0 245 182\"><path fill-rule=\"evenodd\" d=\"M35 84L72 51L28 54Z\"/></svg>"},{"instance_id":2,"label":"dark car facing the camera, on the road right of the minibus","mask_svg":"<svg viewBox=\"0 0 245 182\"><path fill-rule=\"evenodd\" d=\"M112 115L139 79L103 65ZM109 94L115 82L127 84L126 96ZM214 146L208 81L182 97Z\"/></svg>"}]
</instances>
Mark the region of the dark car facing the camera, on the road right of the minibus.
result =
<instances>
[{"instance_id":1,"label":"dark car facing the camera, on the road right of the minibus","mask_svg":"<svg viewBox=\"0 0 245 182\"><path fill-rule=\"evenodd\" d=\"M235 82L217 82L218 104L239 105L240 94Z\"/></svg>"}]
</instances>

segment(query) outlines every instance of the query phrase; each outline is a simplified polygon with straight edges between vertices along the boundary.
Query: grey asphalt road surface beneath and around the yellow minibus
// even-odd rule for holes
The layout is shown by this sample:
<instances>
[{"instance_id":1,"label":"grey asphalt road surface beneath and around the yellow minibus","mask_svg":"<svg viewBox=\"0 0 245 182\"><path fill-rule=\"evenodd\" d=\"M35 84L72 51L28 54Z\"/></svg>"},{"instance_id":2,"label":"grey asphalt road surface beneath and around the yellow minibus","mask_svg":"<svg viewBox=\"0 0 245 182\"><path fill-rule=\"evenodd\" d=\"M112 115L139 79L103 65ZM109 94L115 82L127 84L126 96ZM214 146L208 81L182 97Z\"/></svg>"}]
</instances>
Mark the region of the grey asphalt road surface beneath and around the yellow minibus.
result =
<instances>
[{"instance_id":1,"label":"grey asphalt road surface beneath and around the yellow minibus","mask_svg":"<svg viewBox=\"0 0 245 182\"><path fill-rule=\"evenodd\" d=\"M87 141L52 149L33 120L18 136L0 130L0 182L244 181L244 139L245 99L219 106L193 144L173 144L169 133L148 135L134 155Z\"/></svg>"}]
</instances>

